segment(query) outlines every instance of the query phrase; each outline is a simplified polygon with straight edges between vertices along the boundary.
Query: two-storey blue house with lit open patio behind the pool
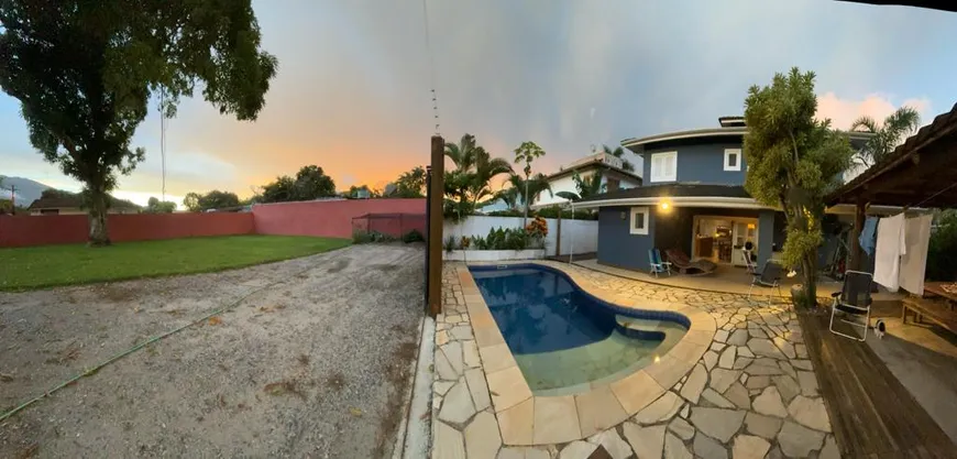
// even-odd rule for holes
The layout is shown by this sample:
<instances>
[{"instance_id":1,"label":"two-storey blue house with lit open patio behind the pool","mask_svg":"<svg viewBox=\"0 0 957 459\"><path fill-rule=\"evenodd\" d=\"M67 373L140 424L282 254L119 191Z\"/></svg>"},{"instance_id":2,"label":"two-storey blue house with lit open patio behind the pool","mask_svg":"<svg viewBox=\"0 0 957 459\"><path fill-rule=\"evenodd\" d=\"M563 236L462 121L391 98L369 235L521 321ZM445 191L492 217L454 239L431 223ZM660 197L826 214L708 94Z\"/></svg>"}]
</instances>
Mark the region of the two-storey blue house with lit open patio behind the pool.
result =
<instances>
[{"instance_id":1,"label":"two-storey blue house with lit open patio behind the pool","mask_svg":"<svg viewBox=\"0 0 957 459\"><path fill-rule=\"evenodd\" d=\"M784 216L744 187L744 118L722 117L719 123L622 142L644 157L645 185L575 203L598 209L600 263L645 271L649 249L678 248L693 259L743 265L746 242L755 245L759 266L778 258ZM856 149L869 136L849 135Z\"/></svg>"}]
</instances>

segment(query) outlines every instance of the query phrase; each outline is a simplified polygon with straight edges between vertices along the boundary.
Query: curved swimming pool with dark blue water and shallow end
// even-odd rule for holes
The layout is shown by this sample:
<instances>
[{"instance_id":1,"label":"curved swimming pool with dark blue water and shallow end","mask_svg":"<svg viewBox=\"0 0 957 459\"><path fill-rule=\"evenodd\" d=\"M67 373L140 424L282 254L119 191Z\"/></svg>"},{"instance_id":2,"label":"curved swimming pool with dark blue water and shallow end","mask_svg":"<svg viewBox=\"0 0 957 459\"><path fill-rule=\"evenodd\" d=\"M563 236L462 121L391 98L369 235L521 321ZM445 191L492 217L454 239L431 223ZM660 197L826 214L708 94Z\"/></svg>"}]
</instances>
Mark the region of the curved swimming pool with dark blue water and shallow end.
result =
<instances>
[{"instance_id":1,"label":"curved swimming pool with dark blue water and shallow end","mask_svg":"<svg viewBox=\"0 0 957 459\"><path fill-rule=\"evenodd\" d=\"M564 395L622 379L668 352L690 326L676 313L603 302L548 266L469 270L536 395Z\"/></svg>"}]
</instances>

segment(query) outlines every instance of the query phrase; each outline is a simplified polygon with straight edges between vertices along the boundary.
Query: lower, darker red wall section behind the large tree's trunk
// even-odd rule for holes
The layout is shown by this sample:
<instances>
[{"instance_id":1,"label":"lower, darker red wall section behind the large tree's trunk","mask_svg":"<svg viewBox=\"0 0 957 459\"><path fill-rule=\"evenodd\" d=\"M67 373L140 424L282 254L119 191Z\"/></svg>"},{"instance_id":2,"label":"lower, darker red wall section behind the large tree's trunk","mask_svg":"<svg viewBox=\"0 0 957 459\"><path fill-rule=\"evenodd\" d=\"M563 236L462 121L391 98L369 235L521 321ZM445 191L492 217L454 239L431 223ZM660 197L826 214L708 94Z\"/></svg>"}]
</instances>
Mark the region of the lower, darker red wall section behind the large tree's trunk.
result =
<instances>
[{"instance_id":1,"label":"lower, darker red wall section behind the large tree's trunk","mask_svg":"<svg viewBox=\"0 0 957 459\"><path fill-rule=\"evenodd\" d=\"M135 214L107 218L110 239L116 242L255 232L252 214ZM82 243L88 233L85 215L0 217L0 247Z\"/></svg>"}]
</instances>

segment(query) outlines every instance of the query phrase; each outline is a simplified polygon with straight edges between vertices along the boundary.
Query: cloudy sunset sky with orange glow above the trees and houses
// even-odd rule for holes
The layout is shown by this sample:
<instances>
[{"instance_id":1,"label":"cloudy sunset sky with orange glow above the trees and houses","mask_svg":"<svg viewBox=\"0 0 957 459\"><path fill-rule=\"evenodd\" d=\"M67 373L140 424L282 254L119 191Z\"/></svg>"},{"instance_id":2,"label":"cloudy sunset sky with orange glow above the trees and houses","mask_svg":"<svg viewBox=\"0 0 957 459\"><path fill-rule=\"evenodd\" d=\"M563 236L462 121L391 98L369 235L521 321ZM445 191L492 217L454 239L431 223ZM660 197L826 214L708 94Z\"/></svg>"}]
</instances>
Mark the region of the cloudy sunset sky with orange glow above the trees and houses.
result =
<instances>
[{"instance_id":1,"label":"cloudy sunset sky with orange glow above the trees and houses","mask_svg":"<svg viewBox=\"0 0 957 459\"><path fill-rule=\"evenodd\" d=\"M440 132L493 155L526 140L549 173L591 144L716 127L750 85L791 66L817 74L820 116L848 128L901 105L923 122L957 102L957 13L835 1L428 1ZM169 120L167 195L252 187L304 165L340 189L383 186L428 161L429 53L421 0L254 0L278 76L255 122L201 99ZM160 119L140 125L147 160L118 196L161 190ZM28 141L0 92L0 175L80 185Z\"/></svg>"}]
</instances>

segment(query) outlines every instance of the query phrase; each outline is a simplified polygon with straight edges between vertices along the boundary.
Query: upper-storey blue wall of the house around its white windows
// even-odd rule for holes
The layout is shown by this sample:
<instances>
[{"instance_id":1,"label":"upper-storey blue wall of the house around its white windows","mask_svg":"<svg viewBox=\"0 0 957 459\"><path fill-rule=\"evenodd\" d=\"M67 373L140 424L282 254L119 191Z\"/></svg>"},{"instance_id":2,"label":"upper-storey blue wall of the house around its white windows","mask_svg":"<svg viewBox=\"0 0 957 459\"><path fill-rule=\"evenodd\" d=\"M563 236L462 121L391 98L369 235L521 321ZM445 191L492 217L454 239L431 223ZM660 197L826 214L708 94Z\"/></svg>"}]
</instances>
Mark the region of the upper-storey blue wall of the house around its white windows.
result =
<instances>
[{"instance_id":1,"label":"upper-storey blue wall of the house around its white windows","mask_svg":"<svg viewBox=\"0 0 957 459\"><path fill-rule=\"evenodd\" d=\"M725 171L725 149L741 149L740 142L702 143L696 145L676 145L656 147L644 153L644 174L646 185L671 182L651 182L651 155L654 153L678 152L678 179L683 183L704 183L722 185L744 185L747 163L744 150L740 157L740 171Z\"/></svg>"}]
</instances>

